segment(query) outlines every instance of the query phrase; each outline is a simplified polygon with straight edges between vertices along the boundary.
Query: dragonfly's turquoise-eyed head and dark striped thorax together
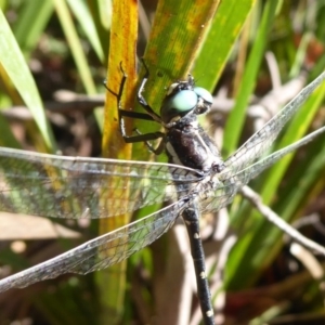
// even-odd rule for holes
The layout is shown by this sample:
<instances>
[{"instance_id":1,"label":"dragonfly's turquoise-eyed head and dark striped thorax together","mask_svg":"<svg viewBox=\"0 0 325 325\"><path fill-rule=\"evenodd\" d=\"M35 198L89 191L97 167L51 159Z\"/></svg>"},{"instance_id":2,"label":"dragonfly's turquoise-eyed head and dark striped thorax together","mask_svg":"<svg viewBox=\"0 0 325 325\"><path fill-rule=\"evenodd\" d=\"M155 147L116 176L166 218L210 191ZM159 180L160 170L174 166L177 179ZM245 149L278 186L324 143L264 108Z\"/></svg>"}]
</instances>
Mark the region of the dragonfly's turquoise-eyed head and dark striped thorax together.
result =
<instances>
[{"instance_id":1,"label":"dragonfly's turquoise-eyed head and dark striped thorax together","mask_svg":"<svg viewBox=\"0 0 325 325\"><path fill-rule=\"evenodd\" d=\"M222 169L216 144L197 120L197 116L207 113L211 104L212 95L206 89L195 87L191 75L187 80L171 84L160 109L169 162L207 173Z\"/></svg>"}]
</instances>

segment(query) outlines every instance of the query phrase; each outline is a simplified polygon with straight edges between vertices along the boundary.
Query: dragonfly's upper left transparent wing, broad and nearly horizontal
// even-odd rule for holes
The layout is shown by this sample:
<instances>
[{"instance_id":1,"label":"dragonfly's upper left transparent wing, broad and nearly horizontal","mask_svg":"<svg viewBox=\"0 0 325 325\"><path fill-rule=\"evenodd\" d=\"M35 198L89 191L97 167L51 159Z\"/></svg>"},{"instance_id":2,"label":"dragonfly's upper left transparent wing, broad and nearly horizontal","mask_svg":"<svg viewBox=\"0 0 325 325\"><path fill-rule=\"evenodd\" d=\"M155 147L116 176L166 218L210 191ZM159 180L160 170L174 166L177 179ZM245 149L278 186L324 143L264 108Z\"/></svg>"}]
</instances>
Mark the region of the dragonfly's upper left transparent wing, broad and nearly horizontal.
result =
<instances>
[{"instance_id":1,"label":"dragonfly's upper left transparent wing, broad and nearly horizontal","mask_svg":"<svg viewBox=\"0 0 325 325\"><path fill-rule=\"evenodd\" d=\"M0 211L105 218L180 197L199 171L168 164L63 157L0 147Z\"/></svg>"}]
</instances>

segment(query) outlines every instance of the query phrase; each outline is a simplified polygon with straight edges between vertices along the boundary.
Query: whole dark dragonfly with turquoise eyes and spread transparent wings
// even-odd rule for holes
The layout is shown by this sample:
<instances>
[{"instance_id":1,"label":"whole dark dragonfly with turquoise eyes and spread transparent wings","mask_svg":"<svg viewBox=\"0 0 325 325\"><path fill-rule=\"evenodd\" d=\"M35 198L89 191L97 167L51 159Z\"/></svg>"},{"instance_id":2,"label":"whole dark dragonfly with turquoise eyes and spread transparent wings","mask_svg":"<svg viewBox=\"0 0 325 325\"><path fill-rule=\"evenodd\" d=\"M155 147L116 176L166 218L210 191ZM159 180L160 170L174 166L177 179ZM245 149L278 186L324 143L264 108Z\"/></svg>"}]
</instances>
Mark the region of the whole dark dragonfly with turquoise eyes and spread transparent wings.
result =
<instances>
[{"instance_id":1,"label":"whole dark dragonfly with turquoise eyes and spread transparent wings","mask_svg":"<svg viewBox=\"0 0 325 325\"><path fill-rule=\"evenodd\" d=\"M120 131L126 142L145 142L168 164L106 158L64 157L0 147L0 211L52 218L109 218L143 207L161 209L115 231L95 237L38 265L0 280L0 291L24 288L65 273L87 274L128 259L159 238L182 216L187 226L204 323L213 324L213 309L199 237L199 216L227 206L252 178L286 154L325 131L322 127L294 144L263 156L286 122L325 79L325 73L307 86L234 154L222 159L197 116L209 112L211 94L194 78L172 83L156 114L143 98L148 70L138 91L144 113L123 109L117 98ZM155 121L164 132L128 135L125 118ZM154 147L152 142L159 142ZM127 184L127 185L126 185ZM128 187L126 187L128 186ZM121 192L128 191L128 200Z\"/></svg>"}]
</instances>

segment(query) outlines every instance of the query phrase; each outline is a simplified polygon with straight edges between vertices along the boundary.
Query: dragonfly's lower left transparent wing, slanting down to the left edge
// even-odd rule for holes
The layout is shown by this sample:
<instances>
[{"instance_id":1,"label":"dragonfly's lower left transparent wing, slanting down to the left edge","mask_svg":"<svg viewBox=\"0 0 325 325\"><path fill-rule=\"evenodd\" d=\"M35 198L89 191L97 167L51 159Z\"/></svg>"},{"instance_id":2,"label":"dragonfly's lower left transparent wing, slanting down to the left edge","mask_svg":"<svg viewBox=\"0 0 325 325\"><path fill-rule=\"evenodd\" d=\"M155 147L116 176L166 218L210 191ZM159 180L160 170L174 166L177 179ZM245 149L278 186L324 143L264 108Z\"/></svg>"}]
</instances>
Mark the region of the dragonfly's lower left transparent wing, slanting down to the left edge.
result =
<instances>
[{"instance_id":1,"label":"dragonfly's lower left transparent wing, slanting down to the left edge","mask_svg":"<svg viewBox=\"0 0 325 325\"><path fill-rule=\"evenodd\" d=\"M87 274L116 264L167 232L185 205L183 202L174 203L51 260L3 278L0 281L0 292L69 272Z\"/></svg>"}]
</instances>

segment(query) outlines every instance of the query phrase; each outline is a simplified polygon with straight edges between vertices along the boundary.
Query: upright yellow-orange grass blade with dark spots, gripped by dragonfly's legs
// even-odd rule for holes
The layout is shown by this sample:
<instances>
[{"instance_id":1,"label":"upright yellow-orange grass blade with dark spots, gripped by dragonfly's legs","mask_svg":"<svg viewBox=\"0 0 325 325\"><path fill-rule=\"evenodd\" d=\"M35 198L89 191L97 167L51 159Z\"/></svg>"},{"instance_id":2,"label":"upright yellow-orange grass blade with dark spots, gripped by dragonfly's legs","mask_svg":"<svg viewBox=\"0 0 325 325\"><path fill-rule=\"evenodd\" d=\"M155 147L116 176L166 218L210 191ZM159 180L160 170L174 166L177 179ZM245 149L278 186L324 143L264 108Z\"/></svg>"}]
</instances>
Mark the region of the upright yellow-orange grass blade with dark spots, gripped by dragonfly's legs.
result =
<instances>
[{"instance_id":1,"label":"upright yellow-orange grass blade with dark spots, gripped by dragonfly's legs","mask_svg":"<svg viewBox=\"0 0 325 325\"><path fill-rule=\"evenodd\" d=\"M128 1L115 1L113 3L113 20L110 30L110 44L114 44L109 51L107 84L114 92L118 92L123 70L128 75L126 82L122 104L127 107L132 106L135 86L135 47L138 38L138 5ZM132 123L127 123L128 131L131 131ZM109 158L130 159L131 145L126 144L120 136L117 122L117 100L110 92L106 92L103 141L103 156ZM128 200L128 180L126 190L120 193L125 202ZM113 187L114 188L114 185ZM114 190L113 190L114 191ZM109 194L108 194L109 195ZM102 203L105 205L105 203ZM100 233L107 233L123 226L130 222L129 214L116 216L102 219L100 221ZM127 295L127 261L122 261L107 270L100 272L96 276L100 299L102 303L101 322L110 324L120 324L126 318L125 296ZM109 289L107 290L107 287Z\"/></svg>"}]
</instances>

